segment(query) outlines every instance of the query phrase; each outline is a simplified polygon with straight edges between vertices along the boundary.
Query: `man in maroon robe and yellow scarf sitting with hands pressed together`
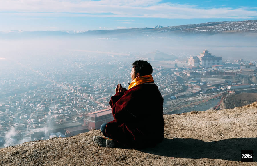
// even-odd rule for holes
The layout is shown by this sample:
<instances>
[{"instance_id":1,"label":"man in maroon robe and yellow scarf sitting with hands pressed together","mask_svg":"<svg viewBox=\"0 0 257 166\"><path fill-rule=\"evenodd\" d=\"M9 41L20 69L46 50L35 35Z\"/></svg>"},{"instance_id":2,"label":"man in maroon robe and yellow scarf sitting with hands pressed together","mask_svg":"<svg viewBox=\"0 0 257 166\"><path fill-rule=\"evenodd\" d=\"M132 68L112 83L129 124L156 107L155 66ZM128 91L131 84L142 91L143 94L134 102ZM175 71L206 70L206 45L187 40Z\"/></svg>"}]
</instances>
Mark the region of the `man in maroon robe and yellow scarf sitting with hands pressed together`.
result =
<instances>
[{"instance_id":1,"label":"man in maroon robe and yellow scarf sitting with hands pressed together","mask_svg":"<svg viewBox=\"0 0 257 166\"><path fill-rule=\"evenodd\" d=\"M119 143L142 148L162 142L163 98L151 74L152 66L147 61L133 63L128 90L118 84L116 94L111 97L114 120L101 126L106 137L93 137L97 146L114 147Z\"/></svg>"}]
</instances>

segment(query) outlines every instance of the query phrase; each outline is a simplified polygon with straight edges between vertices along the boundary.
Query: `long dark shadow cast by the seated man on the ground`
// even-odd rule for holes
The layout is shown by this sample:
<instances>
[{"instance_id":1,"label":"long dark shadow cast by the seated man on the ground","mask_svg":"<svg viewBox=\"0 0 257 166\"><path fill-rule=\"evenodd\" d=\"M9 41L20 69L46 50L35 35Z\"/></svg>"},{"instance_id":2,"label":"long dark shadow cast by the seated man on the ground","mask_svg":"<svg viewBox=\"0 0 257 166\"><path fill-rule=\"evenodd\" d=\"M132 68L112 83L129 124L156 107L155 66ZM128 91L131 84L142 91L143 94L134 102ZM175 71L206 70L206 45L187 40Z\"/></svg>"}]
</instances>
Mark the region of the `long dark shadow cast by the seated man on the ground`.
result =
<instances>
[{"instance_id":1,"label":"long dark shadow cast by the seated man on the ground","mask_svg":"<svg viewBox=\"0 0 257 166\"><path fill-rule=\"evenodd\" d=\"M167 157L241 161L241 150L253 150L253 161L256 162L256 142L257 138L231 138L210 142L192 138L165 138L154 148L138 151Z\"/></svg>"}]
</instances>

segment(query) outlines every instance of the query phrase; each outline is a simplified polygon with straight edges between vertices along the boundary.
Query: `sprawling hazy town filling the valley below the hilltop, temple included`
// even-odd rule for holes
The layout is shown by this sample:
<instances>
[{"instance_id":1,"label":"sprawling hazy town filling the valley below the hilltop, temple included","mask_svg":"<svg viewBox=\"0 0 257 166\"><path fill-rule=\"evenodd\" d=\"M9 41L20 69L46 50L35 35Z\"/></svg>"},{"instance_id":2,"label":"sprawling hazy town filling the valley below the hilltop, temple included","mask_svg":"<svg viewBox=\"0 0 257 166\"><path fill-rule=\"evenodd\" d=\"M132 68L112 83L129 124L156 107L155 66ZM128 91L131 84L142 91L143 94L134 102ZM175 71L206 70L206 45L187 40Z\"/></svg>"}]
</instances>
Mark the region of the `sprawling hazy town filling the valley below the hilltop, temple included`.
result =
<instances>
[{"instance_id":1,"label":"sprawling hazy town filling the valley below the hilltop, temple included","mask_svg":"<svg viewBox=\"0 0 257 166\"><path fill-rule=\"evenodd\" d=\"M208 50L173 59L160 51L151 55L73 51L51 58L1 58L0 146L99 129L113 120L110 97L118 83L128 87L136 59L152 64L166 114L215 111L224 102L233 105L233 95L256 92L256 61L224 60Z\"/></svg>"}]
</instances>

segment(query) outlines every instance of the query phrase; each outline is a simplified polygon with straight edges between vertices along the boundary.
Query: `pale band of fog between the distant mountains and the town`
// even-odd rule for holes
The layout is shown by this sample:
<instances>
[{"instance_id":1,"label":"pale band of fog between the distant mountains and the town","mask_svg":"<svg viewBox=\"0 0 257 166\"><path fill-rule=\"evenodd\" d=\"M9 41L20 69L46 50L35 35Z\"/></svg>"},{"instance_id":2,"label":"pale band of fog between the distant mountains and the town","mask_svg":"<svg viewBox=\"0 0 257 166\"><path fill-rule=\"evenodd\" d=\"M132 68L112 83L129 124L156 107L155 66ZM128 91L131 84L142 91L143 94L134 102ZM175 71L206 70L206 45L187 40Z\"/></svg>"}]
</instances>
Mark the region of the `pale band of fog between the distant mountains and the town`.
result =
<instances>
[{"instance_id":1,"label":"pale band of fog between the distant mountains and the town","mask_svg":"<svg viewBox=\"0 0 257 166\"><path fill-rule=\"evenodd\" d=\"M117 36L115 36L117 37ZM176 56L197 55L208 49L213 55L223 59L256 60L255 34L216 35L169 35L138 36L133 38L113 36L70 36L0 39L0 55L5 58L25 58L27 56L60 55L67 51L91 51L97 53L145 54L155 50Z\"/></svg>"}]
</instances>

